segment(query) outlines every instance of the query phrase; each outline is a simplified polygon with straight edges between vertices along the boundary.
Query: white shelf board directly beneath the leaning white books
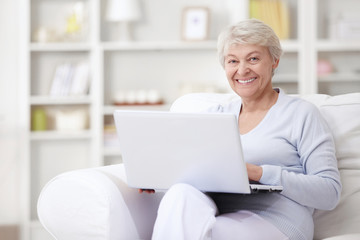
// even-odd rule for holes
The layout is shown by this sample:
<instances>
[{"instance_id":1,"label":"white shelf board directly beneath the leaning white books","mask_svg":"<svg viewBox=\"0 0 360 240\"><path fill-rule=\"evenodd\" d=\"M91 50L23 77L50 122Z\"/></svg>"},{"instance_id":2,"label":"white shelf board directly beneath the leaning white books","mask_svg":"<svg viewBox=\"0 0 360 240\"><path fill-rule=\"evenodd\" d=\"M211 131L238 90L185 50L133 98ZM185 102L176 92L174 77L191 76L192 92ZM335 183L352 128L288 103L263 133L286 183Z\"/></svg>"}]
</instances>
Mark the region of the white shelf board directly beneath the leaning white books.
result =
<instances>
[{"instance_id":1,"label":"white shelf board directly beneath the leaning white books","mask_svg":"<svg viewBox=\"0 0 360 240\"><path fill-rule=\"evenodd\" d=\"M90 96L32 96L30 97L31 105L79 105L91 104Z\"/></svg>"}]
</instances>

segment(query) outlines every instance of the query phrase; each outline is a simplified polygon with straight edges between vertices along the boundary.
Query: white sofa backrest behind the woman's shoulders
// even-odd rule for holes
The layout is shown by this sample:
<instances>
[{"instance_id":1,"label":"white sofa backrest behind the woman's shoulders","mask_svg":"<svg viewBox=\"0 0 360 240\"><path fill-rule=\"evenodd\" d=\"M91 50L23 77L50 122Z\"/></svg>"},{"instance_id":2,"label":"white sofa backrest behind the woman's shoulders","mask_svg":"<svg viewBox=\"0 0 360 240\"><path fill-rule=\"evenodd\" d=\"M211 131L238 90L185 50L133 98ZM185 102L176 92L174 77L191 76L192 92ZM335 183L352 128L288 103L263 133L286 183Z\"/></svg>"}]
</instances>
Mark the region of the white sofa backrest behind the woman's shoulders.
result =
<instances>
[{"instance_id":1,"label":"white sofa backrest behind the woman's shoulders","mask_svg":"<svg viewBox=\"0 0 360 240\"><path fill-rule=\"evenodd\" d=\"M319 108L333 133L343 184L340 203L334 210L315 211L314 238L360 233L360 93L300 97ZM178 98L170 111L201 112L236 98L232 93L192 93Z\"/></svg>"}]
</instances>

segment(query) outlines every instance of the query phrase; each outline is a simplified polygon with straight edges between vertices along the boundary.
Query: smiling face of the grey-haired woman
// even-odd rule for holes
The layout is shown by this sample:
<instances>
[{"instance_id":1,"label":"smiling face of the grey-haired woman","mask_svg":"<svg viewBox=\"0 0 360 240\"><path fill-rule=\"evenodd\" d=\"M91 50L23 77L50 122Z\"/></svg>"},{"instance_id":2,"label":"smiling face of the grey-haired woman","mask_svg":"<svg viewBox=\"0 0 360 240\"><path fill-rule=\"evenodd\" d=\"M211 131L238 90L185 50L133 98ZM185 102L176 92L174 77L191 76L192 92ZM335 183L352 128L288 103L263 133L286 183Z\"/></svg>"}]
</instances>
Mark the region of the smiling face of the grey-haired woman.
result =
<instances>
[{"instance_id":1,"label":"smiling face of the grey-haired woman","mask_svg":"<svg viewBox=\"0 0 360 240\"><path fill-rule=\"evenodd\" d=\"M267 47L233 44L225 55L225 73L231 88L243 99L257 99L272 91L271 78L279 60Z\"/></svg>"}]
</instances>

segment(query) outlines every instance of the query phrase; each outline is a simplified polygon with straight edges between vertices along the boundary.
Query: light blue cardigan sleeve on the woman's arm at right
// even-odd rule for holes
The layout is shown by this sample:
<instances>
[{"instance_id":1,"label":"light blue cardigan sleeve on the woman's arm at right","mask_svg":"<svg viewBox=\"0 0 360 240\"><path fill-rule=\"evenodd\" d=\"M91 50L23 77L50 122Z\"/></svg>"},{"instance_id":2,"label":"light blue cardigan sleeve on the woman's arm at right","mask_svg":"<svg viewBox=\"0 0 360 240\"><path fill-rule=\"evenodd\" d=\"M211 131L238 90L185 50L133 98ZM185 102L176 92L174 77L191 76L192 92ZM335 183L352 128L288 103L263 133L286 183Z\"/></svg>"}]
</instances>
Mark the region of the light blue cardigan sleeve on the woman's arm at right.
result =
<instances>
[{"instance_id":1,"label":"light blue cardigan sleeve on the woman's arm at right","mask_svg":"<svg viewBox=\"0 0 360 240\"><path fill-rule=\"evenodd\" d=\"M341 194L331 131L319 110L310 103L297 108L294 121L292 138L296 142L302 173L262 165L260 182L282 185L281 194L304 206L331 210L336 207Z\"/></svg>"}]
</instances>

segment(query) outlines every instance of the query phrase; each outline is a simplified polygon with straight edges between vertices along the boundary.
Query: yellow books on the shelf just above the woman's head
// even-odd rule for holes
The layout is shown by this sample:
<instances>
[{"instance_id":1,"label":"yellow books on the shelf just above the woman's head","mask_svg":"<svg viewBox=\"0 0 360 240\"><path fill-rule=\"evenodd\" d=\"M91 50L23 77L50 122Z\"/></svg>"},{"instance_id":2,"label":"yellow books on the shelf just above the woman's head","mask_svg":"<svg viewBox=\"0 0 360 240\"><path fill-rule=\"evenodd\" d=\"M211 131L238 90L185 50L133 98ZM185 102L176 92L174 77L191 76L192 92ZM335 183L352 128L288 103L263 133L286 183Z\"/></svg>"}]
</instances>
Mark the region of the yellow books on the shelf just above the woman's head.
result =
<instances>
[{"instance_id":1,"label":"yellow books on the shelf just above the woman's head","mask_svg":"<svg viewBox=\"0 0 360 240\"><path fill-rule=\"evenodd\" d=\"M250 17L268 24L280 39L289 39L290 16L287 0L250 0Z\"/></svg>"}]
</instances>

